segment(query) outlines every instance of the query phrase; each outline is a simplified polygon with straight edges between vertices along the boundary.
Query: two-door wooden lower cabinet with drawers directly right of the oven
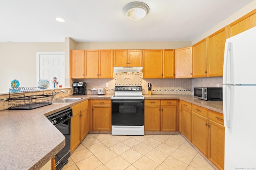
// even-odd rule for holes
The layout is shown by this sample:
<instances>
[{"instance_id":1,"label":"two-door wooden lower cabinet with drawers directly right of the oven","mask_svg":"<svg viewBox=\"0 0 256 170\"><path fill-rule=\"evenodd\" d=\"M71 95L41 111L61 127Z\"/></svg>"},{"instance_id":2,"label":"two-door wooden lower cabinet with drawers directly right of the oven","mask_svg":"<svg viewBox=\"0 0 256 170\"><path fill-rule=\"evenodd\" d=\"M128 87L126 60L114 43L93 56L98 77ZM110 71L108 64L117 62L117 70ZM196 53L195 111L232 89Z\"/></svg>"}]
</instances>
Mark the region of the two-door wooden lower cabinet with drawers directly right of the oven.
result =
<instances>
[{"instance_id":1,"label":"two-door wooden lower cabinet with drawers directly right of the oven","mask_svg":"<svg viewBox=\"0 0 256 170\"><path fill-rule=\"evenodd\" d=\"M177 100L145 100L145 131L176 131Z\"/></svg>"}]
</instances>

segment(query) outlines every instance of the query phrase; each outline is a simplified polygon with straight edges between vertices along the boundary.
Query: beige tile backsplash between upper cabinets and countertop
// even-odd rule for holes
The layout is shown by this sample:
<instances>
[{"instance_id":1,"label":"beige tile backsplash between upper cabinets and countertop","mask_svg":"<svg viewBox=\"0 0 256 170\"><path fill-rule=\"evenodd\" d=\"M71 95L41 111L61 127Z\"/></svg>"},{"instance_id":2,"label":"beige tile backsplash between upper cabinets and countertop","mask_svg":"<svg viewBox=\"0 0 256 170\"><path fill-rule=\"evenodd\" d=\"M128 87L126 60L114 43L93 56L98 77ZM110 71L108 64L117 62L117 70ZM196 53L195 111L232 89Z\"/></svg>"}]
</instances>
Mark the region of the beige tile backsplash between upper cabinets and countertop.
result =
<instances>
[{"instance_id":1,"label":"beige tile backsplash between upper cabinets and countertop","mask_svg":"<svg viewBox=\"0 0 256 170\"><path fill-rule=\"evenodd\" d=\"M195 86L216 87L219 84L222 87L222 77L206 78L141 78L141 73L118 73L115 78L99 79L79 79L74 82L86 82L88 94L90 89L102 88L108 83L106 94L114 94L116 85L141 85L142 94L147 94L148 83L152 83L152 94L193 94Z\"/></svg>"}]
</instances>

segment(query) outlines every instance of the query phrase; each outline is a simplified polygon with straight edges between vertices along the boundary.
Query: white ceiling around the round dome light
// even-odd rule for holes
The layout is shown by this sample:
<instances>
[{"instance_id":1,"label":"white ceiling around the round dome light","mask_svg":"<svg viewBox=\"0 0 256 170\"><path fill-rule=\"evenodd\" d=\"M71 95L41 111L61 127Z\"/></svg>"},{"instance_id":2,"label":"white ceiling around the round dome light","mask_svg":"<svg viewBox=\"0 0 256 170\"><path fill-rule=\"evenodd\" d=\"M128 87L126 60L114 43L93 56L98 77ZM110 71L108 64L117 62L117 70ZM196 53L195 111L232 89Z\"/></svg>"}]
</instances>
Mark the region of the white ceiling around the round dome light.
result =
<instances>
[{"instance_id":1,"label":"white ceiling around the round dome light","mask_svg":"<svg viewBox=\"0 0 256 170\"><path fill-rule=\"evenodd\" d=\"M140 21L122 13L129 2L0 0L0 42L192 41L252 0L141 0L150 11Z\"/></svg>"}]
</instances>

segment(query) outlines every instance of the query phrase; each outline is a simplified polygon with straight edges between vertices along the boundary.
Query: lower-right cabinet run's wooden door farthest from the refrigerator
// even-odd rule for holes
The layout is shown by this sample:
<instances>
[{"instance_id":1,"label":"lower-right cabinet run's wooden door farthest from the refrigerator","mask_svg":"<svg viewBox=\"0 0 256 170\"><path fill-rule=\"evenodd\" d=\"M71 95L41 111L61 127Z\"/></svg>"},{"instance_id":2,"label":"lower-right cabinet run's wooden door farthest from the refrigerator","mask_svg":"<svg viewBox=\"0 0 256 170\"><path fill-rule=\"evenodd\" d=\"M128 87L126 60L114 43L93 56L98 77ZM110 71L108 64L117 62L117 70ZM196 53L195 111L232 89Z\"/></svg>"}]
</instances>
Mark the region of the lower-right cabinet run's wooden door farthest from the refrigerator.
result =
<instances>
[{"instance_id":1,"label":"lower-right cabinet run's wooden door farthest from the refrigerator","mask_svg":"<svg viewBox=\"0 0 256 170\"><path fill-rule=\"evenodd\" d=\"M181 107L180 132L191 142L191 110Z\"/></svg>"}]
</instances>

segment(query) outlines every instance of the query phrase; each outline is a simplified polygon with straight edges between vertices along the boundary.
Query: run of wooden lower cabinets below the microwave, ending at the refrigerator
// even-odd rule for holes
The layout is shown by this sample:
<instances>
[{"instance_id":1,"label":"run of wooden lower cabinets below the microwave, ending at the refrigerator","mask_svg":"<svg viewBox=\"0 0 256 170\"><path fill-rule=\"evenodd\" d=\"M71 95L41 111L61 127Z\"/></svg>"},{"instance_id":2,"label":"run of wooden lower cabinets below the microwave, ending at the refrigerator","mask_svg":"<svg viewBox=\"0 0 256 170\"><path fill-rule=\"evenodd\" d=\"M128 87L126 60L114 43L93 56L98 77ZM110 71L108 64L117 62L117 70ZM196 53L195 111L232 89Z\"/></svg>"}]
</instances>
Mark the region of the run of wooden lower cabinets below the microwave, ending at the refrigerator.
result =
<instances>
[{"instance_id":1,"label":"run of wooden lower cabinets below the microwave, ending at the refrigerator","mask_svg":"<svg viewBox=\"0 0 256 170\"><path fill-rule=\"evenodd\" d=\"M180 132L218 169L223 170L223 114L182 100L180 107Z\"/></svg>"}]
</instances>

